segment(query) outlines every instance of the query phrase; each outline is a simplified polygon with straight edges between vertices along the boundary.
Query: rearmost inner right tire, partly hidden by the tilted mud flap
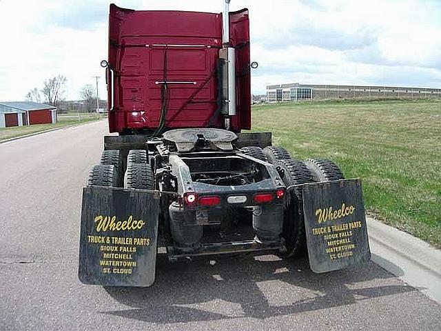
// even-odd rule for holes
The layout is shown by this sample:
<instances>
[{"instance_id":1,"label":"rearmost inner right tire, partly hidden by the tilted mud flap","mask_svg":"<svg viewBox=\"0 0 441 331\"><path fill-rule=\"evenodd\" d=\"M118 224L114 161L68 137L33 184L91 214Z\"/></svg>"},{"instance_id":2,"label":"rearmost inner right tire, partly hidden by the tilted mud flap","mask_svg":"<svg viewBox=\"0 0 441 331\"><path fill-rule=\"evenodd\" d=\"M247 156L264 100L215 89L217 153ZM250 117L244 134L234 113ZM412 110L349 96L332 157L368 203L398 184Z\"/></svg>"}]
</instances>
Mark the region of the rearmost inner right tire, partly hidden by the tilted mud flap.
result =
<instances>
[{"instance_id":1,"label":"rearmost inner right tire, partly hidden by the tilted mud flap","mask_svg":"<svg viewBox=\"0 0 441 331\"><path fill-rule=\"evenodd\" d=\"M278 165L285 170L283 181L287 186L314 182L313 175L302 161L282 159ZM300 257L307 252L302 191L294 189L291 197L283 215L282 237L287 248L286 257Z\"/></svg>"}]
</instances>

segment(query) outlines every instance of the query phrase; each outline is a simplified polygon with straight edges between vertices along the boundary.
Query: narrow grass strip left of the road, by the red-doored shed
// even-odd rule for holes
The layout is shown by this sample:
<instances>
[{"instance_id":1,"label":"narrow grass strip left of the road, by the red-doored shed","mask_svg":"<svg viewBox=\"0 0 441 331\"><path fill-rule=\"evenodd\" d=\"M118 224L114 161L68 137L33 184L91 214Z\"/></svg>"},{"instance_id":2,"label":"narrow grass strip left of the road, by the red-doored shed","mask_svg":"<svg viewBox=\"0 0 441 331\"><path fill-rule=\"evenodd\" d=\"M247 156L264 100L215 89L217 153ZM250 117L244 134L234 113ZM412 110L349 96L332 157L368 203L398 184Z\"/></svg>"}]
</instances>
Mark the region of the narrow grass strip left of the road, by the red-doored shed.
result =
<instances>
[{"instance_id":1,"label":"narrow grass strip left of the road, by the red-doored shed","mask_svg":"<svg viewBox=\"0 0 441 331\"><path fill-rule=\"evenodd\" d=\"M50 130L52 128L62 128L64 126L72 126L73 124L96 121L96 119L100 118L99 116L103 118L103 114L97 115L95 113L80 113L79 116L76 113L59 114L58 123L55 124L35 124L32 126L14 126L12 128L0 128L0 141L14 137L20 137L25 134Z\"/></svg>"}]
</instances>

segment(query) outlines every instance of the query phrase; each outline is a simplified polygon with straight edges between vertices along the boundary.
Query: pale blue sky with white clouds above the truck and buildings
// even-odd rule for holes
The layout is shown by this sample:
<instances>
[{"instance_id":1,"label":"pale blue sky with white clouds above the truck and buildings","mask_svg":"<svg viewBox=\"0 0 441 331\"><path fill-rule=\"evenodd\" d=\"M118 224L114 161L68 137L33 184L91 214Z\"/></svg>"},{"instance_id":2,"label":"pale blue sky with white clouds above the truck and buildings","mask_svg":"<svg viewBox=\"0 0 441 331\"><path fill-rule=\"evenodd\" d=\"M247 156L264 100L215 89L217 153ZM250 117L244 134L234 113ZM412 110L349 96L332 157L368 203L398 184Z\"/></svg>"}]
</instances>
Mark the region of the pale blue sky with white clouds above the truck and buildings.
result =
<instances>
[{"instance_id":1,"label":"pale blue sky with white clouds above the truck and buildings","mask_svg":"<svg viewBox=\"0 0 441 331\"><path fill-rule=\"evenodd\" d=\"M0 0L0 101L21 101L57 74L80 99L101 76L105 0ZM221 0L127 0L137 10L221 12ZM441 0L232 0L249 8L252 93L276 83L441 88Z\"/></svg>"}]
</instances>

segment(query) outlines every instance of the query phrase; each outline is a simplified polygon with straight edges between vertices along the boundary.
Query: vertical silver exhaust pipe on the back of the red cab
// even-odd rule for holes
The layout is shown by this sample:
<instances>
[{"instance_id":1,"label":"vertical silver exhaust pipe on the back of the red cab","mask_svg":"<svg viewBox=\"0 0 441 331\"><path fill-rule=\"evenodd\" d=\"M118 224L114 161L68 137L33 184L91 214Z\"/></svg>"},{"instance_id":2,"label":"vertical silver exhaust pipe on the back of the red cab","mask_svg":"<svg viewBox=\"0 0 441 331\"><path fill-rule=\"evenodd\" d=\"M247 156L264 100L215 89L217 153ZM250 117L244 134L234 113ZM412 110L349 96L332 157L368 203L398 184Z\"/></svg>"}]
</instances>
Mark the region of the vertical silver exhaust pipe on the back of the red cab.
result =
<instances>
[{"instance_id":1,"label":"vertical silver exhaust pipe on the back of the red cab","mask_svg":"<svg viewBox=\"0 0 441 331\"><path fill-rule=\"evenodd\" d=\"M222 42L223 42L223 57L227 63L226 70L223 74L223 114L225 115L225 129L230 128L230 117L236 115L236 50L229 47L229 1L224 0L223 6L223 28L222 28Z\"/></svg>"}]
</instances>

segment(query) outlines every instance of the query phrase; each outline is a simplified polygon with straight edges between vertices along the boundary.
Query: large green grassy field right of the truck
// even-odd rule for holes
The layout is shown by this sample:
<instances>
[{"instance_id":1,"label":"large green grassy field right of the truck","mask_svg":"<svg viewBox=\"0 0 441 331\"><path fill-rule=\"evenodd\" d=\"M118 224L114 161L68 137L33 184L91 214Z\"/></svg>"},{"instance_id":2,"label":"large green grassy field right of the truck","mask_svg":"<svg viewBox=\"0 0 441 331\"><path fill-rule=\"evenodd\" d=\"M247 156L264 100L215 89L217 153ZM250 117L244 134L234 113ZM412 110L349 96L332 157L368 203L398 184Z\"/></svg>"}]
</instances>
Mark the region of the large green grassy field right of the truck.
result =
<instances>
[{"instance_id":1,"label":"large green grassy field right of the truck","mask_svg":"<svg viewBox=\"0 0 441 331\"><path fill-rule=\"evenodd\" d=\"M441 101L322 101L253 107L293 157L336 161L360 177L367 210L441 247Z\"/></svg>"}]
</instances>

